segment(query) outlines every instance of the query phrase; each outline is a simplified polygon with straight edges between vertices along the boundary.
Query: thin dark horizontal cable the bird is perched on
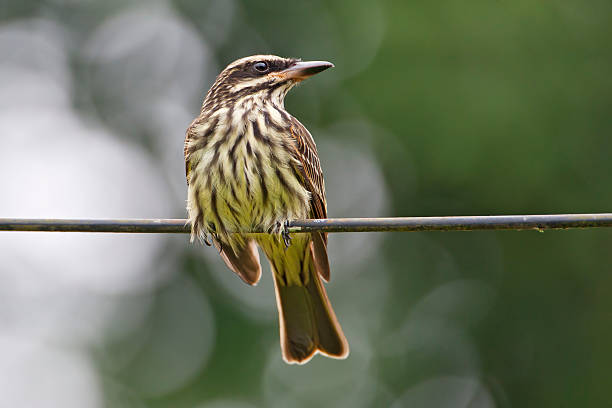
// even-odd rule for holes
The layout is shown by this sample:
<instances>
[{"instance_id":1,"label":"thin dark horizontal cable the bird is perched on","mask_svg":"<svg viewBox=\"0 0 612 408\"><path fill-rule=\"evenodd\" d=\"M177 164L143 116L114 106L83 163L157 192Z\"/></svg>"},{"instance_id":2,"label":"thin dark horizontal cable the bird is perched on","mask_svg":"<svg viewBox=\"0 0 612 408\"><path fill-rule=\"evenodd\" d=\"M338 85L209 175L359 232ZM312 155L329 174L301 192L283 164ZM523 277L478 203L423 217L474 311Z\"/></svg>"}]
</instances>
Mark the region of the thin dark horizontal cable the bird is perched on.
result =
<instances>
[{"instance_id":1,"label":"thin dark horizontal cable the bird is perched on","mask_svg":"<svg viewBox=\"0 0 612 408\"><path fill-rule=\"evenodd\" d=\"M612 227L612 213L454 217L329 218L289 222L289 232L547 230ZM184 219L0 218L0 231L188 233ZM242 231L262 233L264 231Z\"/></svg>"}]
</instances>

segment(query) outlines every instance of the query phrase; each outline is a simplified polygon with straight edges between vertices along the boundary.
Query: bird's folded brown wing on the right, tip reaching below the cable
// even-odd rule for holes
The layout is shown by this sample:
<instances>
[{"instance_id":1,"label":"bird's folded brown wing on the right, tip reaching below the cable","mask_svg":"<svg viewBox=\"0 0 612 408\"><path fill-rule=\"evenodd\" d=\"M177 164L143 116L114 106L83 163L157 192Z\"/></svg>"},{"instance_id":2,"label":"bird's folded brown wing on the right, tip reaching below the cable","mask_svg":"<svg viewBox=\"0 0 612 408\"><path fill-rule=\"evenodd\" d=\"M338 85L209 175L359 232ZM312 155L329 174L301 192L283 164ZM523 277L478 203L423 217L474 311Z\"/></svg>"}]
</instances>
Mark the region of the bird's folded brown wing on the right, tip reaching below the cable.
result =
<instances>
[{"instance_id":1,"label":"bird's folded brown wing on the right, tip reaching below the cable","mask_svg":"<svg viewBox=\"0 0 612 408\"><path fill-rule=\"evenodd\" d=\"M304 125L295 118L291 118L291 137L295 148L293 156L301 164L299 171L304 178L305 187L310 192L311 217L327 218L325 182L314 139ZM312 233L312 252L317 271L323 279L329 281L327 233Z\"/></svg>"}]
</instances>

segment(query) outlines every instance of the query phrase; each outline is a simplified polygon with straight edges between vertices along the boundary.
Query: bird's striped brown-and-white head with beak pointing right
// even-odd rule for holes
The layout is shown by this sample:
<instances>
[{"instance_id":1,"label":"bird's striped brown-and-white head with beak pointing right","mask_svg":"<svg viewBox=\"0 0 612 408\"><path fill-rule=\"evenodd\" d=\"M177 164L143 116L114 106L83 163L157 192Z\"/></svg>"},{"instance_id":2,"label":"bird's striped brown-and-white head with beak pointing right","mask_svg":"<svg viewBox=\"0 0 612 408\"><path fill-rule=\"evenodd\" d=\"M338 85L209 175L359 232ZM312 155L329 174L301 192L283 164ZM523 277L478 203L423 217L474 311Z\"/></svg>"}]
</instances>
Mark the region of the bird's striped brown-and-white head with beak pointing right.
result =
<instances>
[{"instance_id":1,"label":"bird's striped brown-and-white head with beak pointing right","mask_svg":"<svg viewBox=\"0 0 612 408\"><path fill-rule=\"evenodd\" d=\"M275 55L241 58L219 74L204 108L228 106L245 97L282 104L287 92L298 82L333 66L327 61L301 61Z\"/></svg>"}]
</instances>

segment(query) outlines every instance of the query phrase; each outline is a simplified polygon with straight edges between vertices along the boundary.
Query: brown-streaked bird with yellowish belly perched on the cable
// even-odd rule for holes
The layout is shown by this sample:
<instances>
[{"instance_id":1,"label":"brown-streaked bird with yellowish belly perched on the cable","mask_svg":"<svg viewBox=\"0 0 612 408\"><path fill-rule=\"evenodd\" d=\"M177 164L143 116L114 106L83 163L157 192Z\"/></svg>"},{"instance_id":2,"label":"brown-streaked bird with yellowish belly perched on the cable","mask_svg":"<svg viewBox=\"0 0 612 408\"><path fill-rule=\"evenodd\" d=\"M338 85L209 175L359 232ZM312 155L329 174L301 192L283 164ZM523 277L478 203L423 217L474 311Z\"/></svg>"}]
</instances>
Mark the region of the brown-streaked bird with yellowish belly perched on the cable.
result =
<instances>
[{"instance_id":1,"label":"brown-streaked bird with yellowish belly perched on the cable","mask_svg":"<svg viewBox=\"0 0 612 408\"><path fill-rule=\"evenodd\" d=\"M261 277L261 248L289 364L349 354L323 286L330 279L327 234L288 232L291 220L326 218L327 204L315 141L287 112L285 96L333 66L275 55L238 59L217 76L185 137L191 241L214 245L249 285Z\"/></svg>"}]
</instances>

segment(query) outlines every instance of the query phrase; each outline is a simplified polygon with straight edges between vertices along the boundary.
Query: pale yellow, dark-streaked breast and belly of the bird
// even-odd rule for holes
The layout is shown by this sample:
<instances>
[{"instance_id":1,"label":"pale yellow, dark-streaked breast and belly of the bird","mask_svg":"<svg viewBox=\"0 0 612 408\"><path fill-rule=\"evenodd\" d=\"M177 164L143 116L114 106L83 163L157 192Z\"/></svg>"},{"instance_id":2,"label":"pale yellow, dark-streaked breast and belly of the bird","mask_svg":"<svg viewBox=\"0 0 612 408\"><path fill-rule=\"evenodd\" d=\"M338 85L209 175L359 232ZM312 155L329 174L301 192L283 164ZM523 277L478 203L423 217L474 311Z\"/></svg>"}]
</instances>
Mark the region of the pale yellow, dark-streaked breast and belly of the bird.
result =
<instances>
[{"instance_id":1,"label":"pale yellow, dark-streaked breast and belly of the bird","mask_svg":"<svg viewBox=\"0 0 612 408\"><path fill-rule=\"evenodd\" d=\"M196 135L201 137L190 144L200 148L188 157L192 222L200 216L209 230L212 224L217 231L239 231L307 217L310 193L281 113L234 109Z\"/></svg>"}]
</instances>

